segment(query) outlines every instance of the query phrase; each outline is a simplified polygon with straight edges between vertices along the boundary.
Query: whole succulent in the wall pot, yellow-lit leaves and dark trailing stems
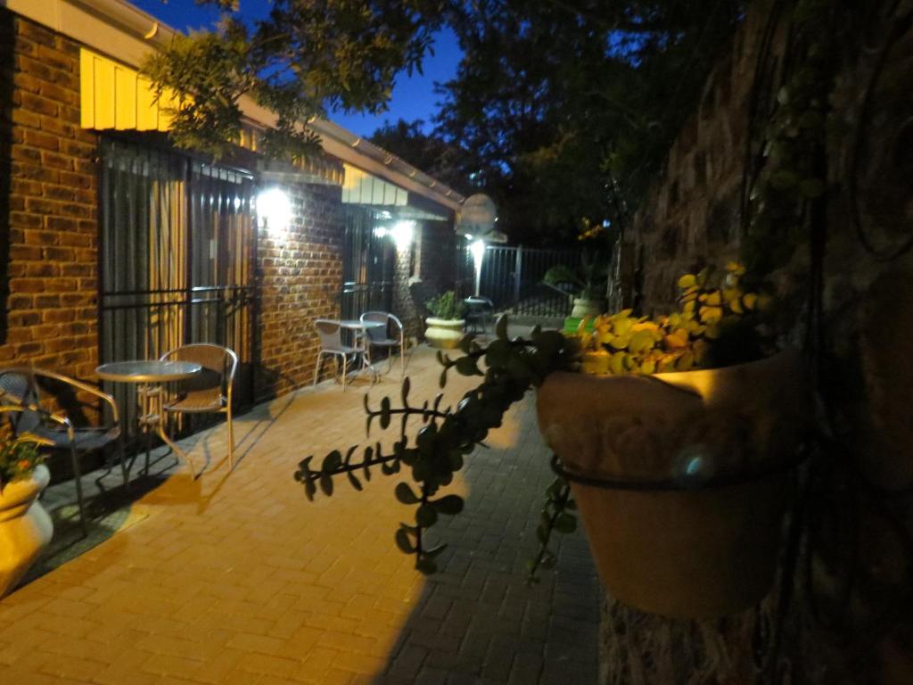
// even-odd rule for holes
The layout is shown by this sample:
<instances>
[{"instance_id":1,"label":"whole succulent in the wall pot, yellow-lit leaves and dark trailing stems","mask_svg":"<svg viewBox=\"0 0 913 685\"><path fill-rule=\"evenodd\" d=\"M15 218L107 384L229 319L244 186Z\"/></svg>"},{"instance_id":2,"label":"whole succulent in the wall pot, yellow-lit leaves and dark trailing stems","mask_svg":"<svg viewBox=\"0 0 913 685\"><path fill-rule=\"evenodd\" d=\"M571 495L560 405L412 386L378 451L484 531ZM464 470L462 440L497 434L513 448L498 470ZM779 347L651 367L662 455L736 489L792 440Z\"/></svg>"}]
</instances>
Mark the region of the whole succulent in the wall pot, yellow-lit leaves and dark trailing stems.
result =
<instances>
[{"instance_id":1,"label":"whole succulent in the wall pot, yellow-lit leaves and dark trailing stems","mask_svg":"<svg viewBox=\"0 0 913 685\"><path fill-rule=\"evenodd\" d=\"M769 297L741 288L743 272L739 264L729 264L719 284L713 286L709 269L686 274L678 279L680 311L647 321L624 310L597 318L593 333L580 332L578 336L566 337L537 327L528 340L509 339L507 318L501 317L495 326L496 339L487 347L466 336L460 342L463 356L451 359L437 354L443 366L441 387L451 370L482 378L456 406L442 406L443 395L420 406L410 404L411 385L405 378L398 406L389 397L383 397L376 407L369 405L367 396L364 400L369 435L375 420L387 428L395 416L400 417L399 439L392 448L377 442L363 448L360 455L357 447L345 454L333 450L319 466L311 456L301 460L295 478L312 499L319 489L331 495L333 479L342 474L353 488L362 490L362 479L371 479L377 469L388 476L407 473L415 486L400 482L394 494L397 500L415 507L415 520L400 524L395 542L404 553L415 555L419 571L434 573L436 558L446 545L429 547L426 532L441 516L455 515L464 506L460 497L442 495L440 490L453 482L467 455L484 444L488 431L501 425L511 405L557 370L652 374L708 365L716 359L714 350L729 332L745 324L757 325L762 311L770 307ZM584 328L582 325L581 331ZM419 424L414 438L410 437L410 421ZM572 514L575 505L567 483L556 479L546 494L537 528L540 550L530 562L530 580L535 580L539 568L551 568L555 562L550 549L552 532L572 532L576 527Z\"/></svg>"}]
</instances>

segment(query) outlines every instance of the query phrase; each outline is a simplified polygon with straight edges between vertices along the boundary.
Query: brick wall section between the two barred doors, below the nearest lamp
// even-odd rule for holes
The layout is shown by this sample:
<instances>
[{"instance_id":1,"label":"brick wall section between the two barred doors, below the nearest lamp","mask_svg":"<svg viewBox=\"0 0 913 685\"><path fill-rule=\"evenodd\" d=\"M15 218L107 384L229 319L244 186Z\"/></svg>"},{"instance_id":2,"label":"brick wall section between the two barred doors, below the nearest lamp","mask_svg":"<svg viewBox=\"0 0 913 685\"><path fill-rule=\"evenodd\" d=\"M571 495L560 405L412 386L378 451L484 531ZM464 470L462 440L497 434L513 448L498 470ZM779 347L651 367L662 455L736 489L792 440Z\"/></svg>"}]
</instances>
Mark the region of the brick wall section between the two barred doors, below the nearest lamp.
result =
<instances>
[{"instance_id":1,"label":"brick wall section between the two barred doors, below the nearest lamp","mask_svg":"<svg viewBox=\"0 0 913 685\"><path fill-rule=\"evenodd\" d=\"M338 318L342 282L341 189L286 185L294 217L286 235L258 234L257 400L313 382L320 342L314 320ZM326 377L333 369L324 362Z\"/></svg>"}]
</instances>

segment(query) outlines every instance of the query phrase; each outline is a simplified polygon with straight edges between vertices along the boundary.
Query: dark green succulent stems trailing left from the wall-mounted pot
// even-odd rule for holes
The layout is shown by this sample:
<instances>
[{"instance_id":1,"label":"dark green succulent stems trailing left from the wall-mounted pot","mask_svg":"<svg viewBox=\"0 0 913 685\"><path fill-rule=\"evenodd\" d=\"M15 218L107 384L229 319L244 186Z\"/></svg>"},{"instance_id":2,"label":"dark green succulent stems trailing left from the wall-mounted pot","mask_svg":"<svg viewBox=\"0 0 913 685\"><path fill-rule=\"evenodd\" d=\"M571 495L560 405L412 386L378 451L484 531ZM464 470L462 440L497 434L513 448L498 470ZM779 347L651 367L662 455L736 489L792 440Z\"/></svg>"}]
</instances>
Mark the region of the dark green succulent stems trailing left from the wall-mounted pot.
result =
<instances>
[{"instance_id":1,"label":"dark green succulent stems trailing left from the wall-mounted pot","mask_svg":"<svg viewBox=\"0 0 913 685\"><path fill-rule=\"evenodd\" d=\"M460 375L483 377L483 381L467 391L456 406L442 408L443 395L437 395L432 403L410 405L411 385L406 378L401 406L393 406L389 397L383 397L380 405L373 408L365 399L369 435L375 419L385 429L394 416L401 416L400 438L392 449L384 451L378 442L373 447L363 448L361 458L355 458L357 446L349 448L344 455L333 450L323 458L320 469L312 467L314 458L311 456L299 463L295 473L295 478L304 485L307 497L313 499L318 488L323 494L331 495L333 479L340 475L345 475L353 488L362 490L359 476L370 479L373 468L380 468L387 476L404 470L417 488L401 482L394 494L398 501L415 507L415 520L400 524L395 542L404 553L415 555L415 568L425 574L435 573L436 557L446 549L443 544L428 545L428 530L441 515L456 515L464 506L458 495L438 496L439 491L453 482L456 471L463 468L466 455L477 446L485 446L488 431L500 427L511 405L530 388L540 385L552 371L570 369L579 353L579 343L566 339L557 331L542 332L537 327L530 340L509 340L507 319L503 317L495 329L498 337L485 349L467 336L460 342L464 356L451 359L438 353L438 361L444 366L440 376L442 387L446 385L451 369ZM484 372L480 368L482 364ZM419 418L422 426L415 434L415 441L410 443L407 431L413 417Z\"/></svg>"}]
</instances>

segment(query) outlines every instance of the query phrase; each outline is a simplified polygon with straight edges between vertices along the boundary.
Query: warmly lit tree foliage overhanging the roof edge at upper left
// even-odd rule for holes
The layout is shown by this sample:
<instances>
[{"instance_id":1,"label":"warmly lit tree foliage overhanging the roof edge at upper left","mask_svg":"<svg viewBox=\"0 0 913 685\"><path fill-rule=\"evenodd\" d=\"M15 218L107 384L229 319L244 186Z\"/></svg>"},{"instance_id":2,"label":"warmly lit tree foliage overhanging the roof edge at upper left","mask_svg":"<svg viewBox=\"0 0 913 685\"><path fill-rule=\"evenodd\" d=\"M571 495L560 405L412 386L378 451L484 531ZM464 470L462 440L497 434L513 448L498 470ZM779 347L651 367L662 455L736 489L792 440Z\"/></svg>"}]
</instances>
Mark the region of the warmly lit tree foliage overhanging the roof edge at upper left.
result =
<instances>
[{"instance_id":1,"label":"warmly lit tree foliage overhanging the roof edge at upper left","mask_svg":"<svg viewBox=\"0 0 913 685\"><path fill-rule=\"evenodd\" d=\"M440 0L273 0L266 19L246 22L238 3L217 5L217 29L175 37L144 71L161 95L178 95L173 141L220 155L236 138L242 95L277 114L268 153L316 150L302 123L328 109L383 111L394 79L421 68L439 25Z\"/></svg>"}]
</instances>

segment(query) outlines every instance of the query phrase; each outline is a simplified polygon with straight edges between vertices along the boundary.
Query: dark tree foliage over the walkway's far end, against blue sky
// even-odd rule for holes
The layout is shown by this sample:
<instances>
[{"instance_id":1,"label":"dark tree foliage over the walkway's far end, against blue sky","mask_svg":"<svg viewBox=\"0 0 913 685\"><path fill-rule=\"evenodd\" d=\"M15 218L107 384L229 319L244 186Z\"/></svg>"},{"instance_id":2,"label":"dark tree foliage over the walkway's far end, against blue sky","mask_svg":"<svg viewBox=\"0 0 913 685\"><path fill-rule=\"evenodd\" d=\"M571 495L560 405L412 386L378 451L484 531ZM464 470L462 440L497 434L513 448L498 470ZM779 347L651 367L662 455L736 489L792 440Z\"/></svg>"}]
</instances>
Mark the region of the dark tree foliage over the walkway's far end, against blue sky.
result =
<instances>
[{"instance_id":1,"label":"dark tree foliage over the walkway's far end, against blue sky","mask_svg":"<svg viewBox=\"0 0 913 685\"><path fill-rule=\"evenodd\" d=\"M446 140L477 156L514 237L566 240L634 208L740 0L479 0L451 19L465 52L444 84ZM620 192L614 195L612 190Z\"/></svg>"}]
</instances>

